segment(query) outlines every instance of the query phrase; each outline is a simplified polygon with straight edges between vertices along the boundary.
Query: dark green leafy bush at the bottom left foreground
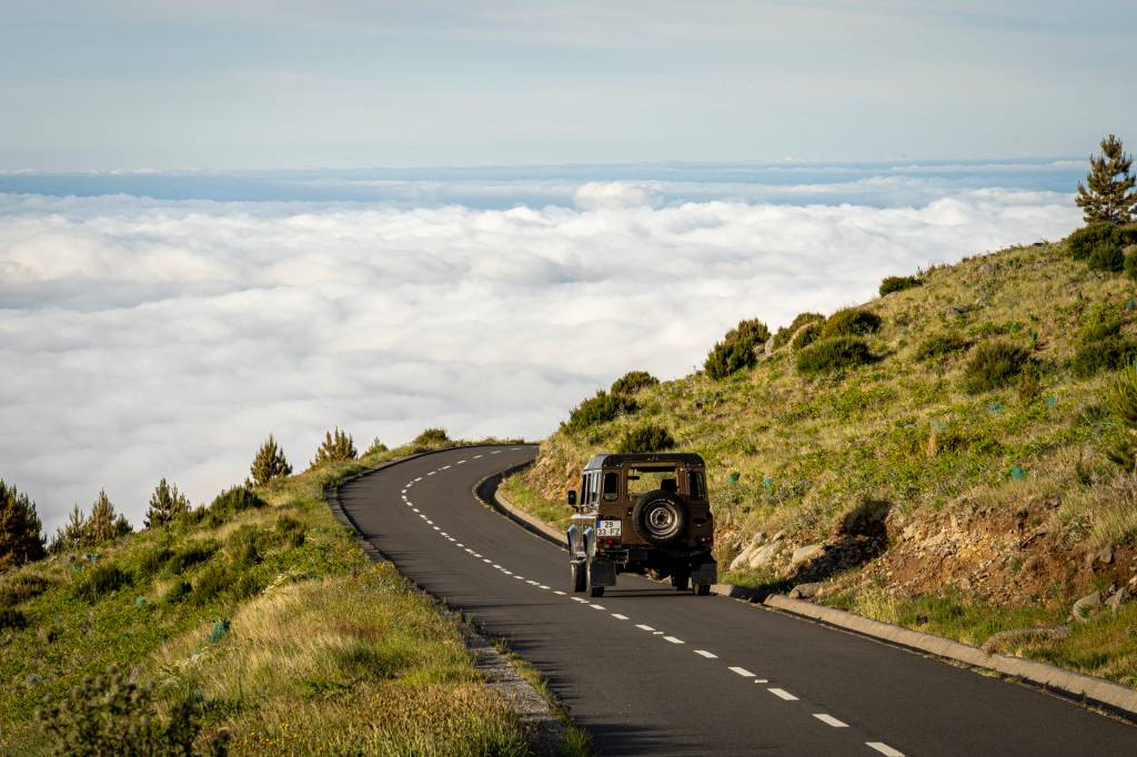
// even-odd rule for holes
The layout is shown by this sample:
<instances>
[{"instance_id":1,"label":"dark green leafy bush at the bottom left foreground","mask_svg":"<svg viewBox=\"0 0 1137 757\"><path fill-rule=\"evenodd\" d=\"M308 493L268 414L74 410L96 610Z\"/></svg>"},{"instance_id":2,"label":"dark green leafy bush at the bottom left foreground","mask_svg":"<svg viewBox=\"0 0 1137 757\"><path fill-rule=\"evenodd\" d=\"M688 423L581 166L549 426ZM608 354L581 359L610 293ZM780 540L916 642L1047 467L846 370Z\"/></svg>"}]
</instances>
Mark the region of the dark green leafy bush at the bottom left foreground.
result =
<instances>
[{"instance_id":1,"label":"dark green leafy bush at the bottom left foreground","mask_svg":"<svg viewBox=\"0 0 1137 757\"><path fill-rule=\"evenodd\" d=\"M106 675L84 677L65 698L49 698L35 718L57 755L224 755L225 731L194 747L201 731L197 709L186 699L158 717L149 687L132 683L111 666Z\"/></svg>"}]
</instances>

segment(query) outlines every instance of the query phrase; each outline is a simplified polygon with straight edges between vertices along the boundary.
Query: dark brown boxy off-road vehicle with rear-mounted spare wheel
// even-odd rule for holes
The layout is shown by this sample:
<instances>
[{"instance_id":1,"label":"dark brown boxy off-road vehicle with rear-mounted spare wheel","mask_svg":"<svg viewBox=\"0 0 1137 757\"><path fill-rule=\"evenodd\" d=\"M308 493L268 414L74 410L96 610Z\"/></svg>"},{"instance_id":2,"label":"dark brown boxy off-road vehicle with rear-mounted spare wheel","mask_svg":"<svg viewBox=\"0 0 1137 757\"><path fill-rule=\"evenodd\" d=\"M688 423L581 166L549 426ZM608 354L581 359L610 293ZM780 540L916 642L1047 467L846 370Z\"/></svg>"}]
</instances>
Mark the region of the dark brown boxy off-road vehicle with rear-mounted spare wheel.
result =
<instances>
[{"instance_id":1,"label":"dark brown boxy off-road vehicle with rear-mounted spare wheel","mask_svg":"<svg viewBox=\"0 0 1137 757\"><path fill-rule=\"evenodd\" d=\"M719 568L703 458L691 454L597 455L581 475L568 527L572 590L604 596L616 574L671 577L711 593Z\"/></svg>"}]
</instances>

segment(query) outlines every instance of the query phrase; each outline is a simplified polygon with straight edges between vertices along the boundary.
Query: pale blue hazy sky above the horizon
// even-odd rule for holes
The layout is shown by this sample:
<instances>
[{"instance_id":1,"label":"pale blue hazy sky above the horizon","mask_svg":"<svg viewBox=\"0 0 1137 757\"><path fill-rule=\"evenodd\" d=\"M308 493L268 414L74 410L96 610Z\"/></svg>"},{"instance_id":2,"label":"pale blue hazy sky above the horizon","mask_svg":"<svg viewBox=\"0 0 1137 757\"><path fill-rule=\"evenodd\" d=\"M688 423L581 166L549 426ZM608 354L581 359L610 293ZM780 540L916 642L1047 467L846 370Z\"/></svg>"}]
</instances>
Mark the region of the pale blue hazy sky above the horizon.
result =
<instances>
[{"instance_id":1,"label":"pale blue hazy sky above the horizon","mask_svg":"<svg viewBox=\"0 0 1137 757\"><path fill-rule=\"evenodd\" d=\"M1137 5L0 2L0 168L1088 155Z\"/></svg>"}]
</instances>

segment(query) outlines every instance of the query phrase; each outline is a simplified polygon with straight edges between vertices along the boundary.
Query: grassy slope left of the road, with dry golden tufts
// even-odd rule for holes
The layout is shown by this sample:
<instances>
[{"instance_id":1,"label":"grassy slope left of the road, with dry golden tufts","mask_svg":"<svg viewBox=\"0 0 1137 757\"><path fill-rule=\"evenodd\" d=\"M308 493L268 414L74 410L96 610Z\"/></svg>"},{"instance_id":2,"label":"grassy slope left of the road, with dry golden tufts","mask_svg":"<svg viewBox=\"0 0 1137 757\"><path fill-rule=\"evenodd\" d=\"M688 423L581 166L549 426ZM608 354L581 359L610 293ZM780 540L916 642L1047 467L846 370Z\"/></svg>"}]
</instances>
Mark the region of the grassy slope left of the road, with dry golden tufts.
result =
<instances>
[{"instance_id":1,"label":"grassy slope left of the road, with dry golden tufts","mask_svg":"<svg viewBox=\"0 0 1137 757\"><path fill-rule=\"evenodd\" d=\"M159 721L189 708L202 750L225 731L231 754L529 754L455 624L368 563L323 500L400 451L279 480L256 490L260 507L5 573L0 751L47 754L33 718L44 698L98 688L115 665L152 687Z\"/></svg>"}]
</instances>

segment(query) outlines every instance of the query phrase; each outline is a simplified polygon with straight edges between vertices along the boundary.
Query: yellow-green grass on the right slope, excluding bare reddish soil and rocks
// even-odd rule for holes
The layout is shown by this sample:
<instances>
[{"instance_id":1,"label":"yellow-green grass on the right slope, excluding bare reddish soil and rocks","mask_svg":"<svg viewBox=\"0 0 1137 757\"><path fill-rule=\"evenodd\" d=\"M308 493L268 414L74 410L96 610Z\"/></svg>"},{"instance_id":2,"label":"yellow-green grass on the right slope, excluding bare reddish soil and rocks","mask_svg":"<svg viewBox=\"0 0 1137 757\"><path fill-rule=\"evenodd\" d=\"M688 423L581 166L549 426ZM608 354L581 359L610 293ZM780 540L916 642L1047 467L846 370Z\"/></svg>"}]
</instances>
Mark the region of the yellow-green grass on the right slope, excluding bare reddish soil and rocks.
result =
<instances>
[{"instance_id":1,"label":"yellow-green grass on the right slope, excluding bare reddish soil and rocks","mask_svg":"<svg viewBox=\"0 0 1137 757\"><path fill-rule=\"evenodd\" d=\"M889 502L890 549L831 579L844 596L864 594L857 612L881 619L888 613L870 599L887 579L891 556L905 549L897 524L947 526L953 517L1056 502L1035 526L1052 534L1053 548L1069 550L1071 565L1080 565L1090 549L1137 544L1137 482L1107 458L1118 435L1105 407L1115 373L1105 366L1086 375L1074 363L1081 334L1103 317L1119 324L1117 332L1111 325L1118 339L1137 336L1131 282L1071 259L1061 242L937 267L921 282L833 321L863 334L878 358L872 364L803 375L796 366L799 348L782 340L771 357L725 380L696 373L663 382L637 396L633 413L587 433L559 430L541 444L536 465L506 482L505 491L518 506L564 525L564 492L579 488L584 461L614 449L626 430L654 423L671 432L677 449L707 461L716 556L724 567L760 532L785 532L789 547L808 544L833 536L843 514L856 504ZM875 321L853 315L864 311L879 317L874 331L869 325ZM977 346L993 341L1023 350L1029 381L1014 372L999 374L998 381L966 381ZM998 373L999 365L990 367L986 373ZM988 388L1004 380L1005 385ZM727 482L730 473L739 474L733 485ZM973 573L973 609L966 606L957 622L929 621L928 630L982 642L993 627L1064 618L1078 592L1089 588L1089 577L1073 571L1051 576L1053 585L1043 589L1011 585L1005 598L1006 587L990 577L994 573L985 579L978 565ZM772 572L730 577L777 587L789 576L783 559ZM922 597L899 590L889 596L903 608L951 604L951 591L945 584L921 590ZM913 612L896 617L924 627L912 618L928 612ZM1090 629L1078 629L1062 644L1039 641L1023 654L1052 655L1077 669L1131 679L1137 666L1126 651L1129 641L1106 632L1114 621L1095 623L1102 642L1113 644L1099 650L1110 659L1106 665L1078 662L1096 659L1089 642L1079 641L1097 633ZM1086 644L1080 656L1077 643Z\"/></svg>"}]
</instances>

